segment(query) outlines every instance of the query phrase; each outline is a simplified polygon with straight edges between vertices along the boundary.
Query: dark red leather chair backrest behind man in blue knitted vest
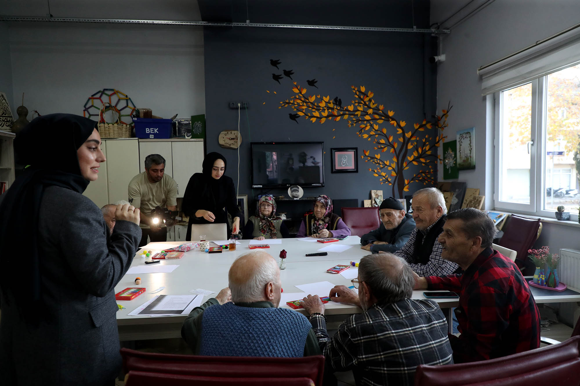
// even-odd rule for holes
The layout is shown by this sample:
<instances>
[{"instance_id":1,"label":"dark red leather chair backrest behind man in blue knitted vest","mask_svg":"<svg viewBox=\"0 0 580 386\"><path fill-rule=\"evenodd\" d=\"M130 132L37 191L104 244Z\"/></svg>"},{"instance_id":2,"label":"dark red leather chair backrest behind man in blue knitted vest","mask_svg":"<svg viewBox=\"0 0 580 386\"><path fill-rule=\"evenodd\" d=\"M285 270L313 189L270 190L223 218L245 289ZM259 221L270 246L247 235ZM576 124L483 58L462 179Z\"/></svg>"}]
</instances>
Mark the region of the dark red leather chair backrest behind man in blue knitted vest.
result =
<instances>
[{"instance_id":1,"label":"dark red leather chair backrest behind man in blue knitted vest","mask_svg":"<svg viewBox=\"0 0 580 386\"><path fill-rule=\"evenodd\" d=\"M284 385L286 384L280 383L278 380L309 378L317 386L322 385L322 374L324 373L323 355L300 358L257 358L157 354L122 348L121 356L126 373L134 371L179 374L216 379L225 378L226 380L227 378L237 378L238 380L264 378L270 380L269 384ZM272 378L276 378L276 381L272 382ZM302 385L303 383L296 384Z\"/></svg>"}]
</instances>

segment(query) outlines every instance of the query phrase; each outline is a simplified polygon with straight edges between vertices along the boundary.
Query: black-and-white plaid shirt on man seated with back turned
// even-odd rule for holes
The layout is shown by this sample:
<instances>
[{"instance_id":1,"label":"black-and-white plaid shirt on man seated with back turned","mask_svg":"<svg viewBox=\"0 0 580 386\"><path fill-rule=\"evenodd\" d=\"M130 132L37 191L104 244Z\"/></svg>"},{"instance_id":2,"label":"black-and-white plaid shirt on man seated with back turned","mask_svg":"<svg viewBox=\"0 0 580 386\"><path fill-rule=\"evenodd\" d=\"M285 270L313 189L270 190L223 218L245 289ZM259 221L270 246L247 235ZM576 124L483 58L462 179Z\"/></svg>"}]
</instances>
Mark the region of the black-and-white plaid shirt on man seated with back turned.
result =
<instances>
[{"instance_id":1,"label":"black-and-white plaid shirt on man seated with back turned","mask_svg":"<svg viewBox=\"0 0 580 386\"><path fill-rule=\"evenodd\" d=\"M320 315L310 318L327 367L353 370L357 385L413 385L418 365L453 363L443 312L431 300L372 305L328 336Z\"/></svg>"}]
</instances>

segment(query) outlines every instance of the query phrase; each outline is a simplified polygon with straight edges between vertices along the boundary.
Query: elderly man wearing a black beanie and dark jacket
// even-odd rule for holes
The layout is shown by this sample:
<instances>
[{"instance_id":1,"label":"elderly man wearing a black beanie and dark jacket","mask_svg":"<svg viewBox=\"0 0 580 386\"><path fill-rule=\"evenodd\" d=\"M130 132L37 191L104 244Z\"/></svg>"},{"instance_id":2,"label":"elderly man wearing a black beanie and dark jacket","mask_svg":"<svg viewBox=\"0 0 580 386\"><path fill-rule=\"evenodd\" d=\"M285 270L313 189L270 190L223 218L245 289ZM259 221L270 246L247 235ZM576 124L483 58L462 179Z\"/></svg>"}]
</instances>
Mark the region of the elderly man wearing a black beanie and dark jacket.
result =
<instances>
[{"instance_id":1,"label":"elderly man wearing a black beanie and dark jacket","mask_svg":"<svg viewBox=\"0 0 580 386\"><path fill-rule=\"evenodd\" d=\"M415 220L406 214L397 199L389 197L380 204L380 227L361 237L361 249L372 253L396 252L408 241L415 229Z\"/></svg>"}]
</instances>

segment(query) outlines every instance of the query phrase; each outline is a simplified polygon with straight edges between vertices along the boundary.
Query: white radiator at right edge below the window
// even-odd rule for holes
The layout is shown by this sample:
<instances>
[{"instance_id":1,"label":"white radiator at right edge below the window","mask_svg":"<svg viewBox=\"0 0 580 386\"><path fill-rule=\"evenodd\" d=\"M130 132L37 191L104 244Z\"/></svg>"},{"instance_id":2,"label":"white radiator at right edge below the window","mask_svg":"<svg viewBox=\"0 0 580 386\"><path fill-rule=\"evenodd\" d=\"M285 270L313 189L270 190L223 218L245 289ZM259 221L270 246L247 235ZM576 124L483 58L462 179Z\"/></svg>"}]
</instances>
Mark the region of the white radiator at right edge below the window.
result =
<instances>
[{"instance_id":1,"label":"white radiator at right edge below the window","mask_svg":"<svg viewBox=\"0 0 580 386\"><path fill-rule=\"evenodd\" d=\"M580 290L580 250L560 249L560 281L568 287ZM580 317L580 302L560 303L561 321L574 327Z\"/></svg>"}]
</instances>

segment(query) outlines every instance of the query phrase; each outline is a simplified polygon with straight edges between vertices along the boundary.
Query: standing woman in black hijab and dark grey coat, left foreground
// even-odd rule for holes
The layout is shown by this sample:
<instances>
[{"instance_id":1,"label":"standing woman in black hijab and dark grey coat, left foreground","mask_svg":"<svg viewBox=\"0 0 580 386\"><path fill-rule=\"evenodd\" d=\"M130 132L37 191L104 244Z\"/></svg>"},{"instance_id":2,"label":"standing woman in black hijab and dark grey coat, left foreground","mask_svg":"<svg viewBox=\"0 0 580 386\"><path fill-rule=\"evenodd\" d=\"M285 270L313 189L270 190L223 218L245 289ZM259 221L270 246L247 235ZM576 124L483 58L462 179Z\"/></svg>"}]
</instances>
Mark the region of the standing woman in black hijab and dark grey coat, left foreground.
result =
<instances>
[{"instance_id":1,"label":"standing woman in black hijab and dark grey coat, left foreground","mask_svg":"<svg viewBox=\"0 0 580 386\"><path fill-rule=\"evenodd\" d=\"M109 235L82 195L105 161L95 125L43 115L14 140L30 166L0 196L2 384L112 385L121 367L114 287L137 250L139 209L117 206Z\"/></svg>"}]
</instances>

